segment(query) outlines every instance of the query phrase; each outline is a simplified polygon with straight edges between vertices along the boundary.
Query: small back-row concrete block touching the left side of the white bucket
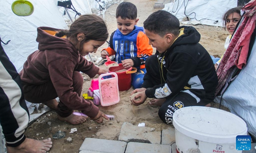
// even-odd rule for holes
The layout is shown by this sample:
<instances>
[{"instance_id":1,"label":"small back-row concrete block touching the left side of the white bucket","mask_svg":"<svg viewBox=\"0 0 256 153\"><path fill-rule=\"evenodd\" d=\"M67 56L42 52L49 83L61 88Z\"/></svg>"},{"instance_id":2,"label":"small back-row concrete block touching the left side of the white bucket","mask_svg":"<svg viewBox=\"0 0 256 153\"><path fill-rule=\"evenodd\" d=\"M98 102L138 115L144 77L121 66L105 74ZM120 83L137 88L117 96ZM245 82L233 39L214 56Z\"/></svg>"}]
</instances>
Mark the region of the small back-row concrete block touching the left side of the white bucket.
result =
<instances>
[{"instance_id":1,"label":"small back-row concrete block touching the left side of the white bucket","mask_svg":"<svg viewBox=\"0 0 256 153\"><path fill-rule=\"evenodd\" d=\"M174 142L175 142L175 128L173 126L169 126L167 129L163 129L161 144L171 145Z\"/></svg>"}]
</instances>

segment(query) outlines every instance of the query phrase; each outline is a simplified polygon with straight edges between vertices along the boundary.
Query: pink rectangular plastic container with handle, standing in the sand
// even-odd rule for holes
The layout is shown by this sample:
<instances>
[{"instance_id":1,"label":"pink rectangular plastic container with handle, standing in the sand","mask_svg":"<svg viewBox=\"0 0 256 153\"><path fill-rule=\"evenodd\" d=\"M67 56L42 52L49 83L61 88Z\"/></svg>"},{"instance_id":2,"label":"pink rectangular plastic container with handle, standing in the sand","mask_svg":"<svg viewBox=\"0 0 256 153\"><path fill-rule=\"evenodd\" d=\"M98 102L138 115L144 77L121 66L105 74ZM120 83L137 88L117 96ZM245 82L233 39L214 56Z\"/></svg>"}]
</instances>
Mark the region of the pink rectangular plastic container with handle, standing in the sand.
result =
<instances>
[{"instance_id":1,"label":"pink rectangular plastic container with handle, standing in the sand","mask_svg":"<svg viewBox=\"0 0 256 153\"><path fill-rule=\"evenodd\" d=\"M101 79L104 76L111 75L111 78ZM110 106L120 101L118 90L118 78L114 72L101 74L99 76L100 104L101 106Z\"/></svg>"}]
</instances>

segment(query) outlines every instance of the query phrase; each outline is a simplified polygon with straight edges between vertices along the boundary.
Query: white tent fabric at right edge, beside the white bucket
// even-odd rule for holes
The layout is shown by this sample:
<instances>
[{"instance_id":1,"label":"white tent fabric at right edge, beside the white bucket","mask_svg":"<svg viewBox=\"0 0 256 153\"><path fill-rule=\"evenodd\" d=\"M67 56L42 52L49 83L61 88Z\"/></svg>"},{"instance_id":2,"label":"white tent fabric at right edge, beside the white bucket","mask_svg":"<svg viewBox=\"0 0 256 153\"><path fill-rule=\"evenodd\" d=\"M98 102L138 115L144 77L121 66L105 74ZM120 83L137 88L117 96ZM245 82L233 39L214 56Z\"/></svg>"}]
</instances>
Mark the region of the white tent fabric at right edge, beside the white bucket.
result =
<instances>
[{"instance_id":1,"label":"white tent fabric at right edge, beside the white bucket","mask_svg":"<svg viewBox=\"0 0 256 153\"><path fill-rule=\"evenodd\" d=\"M221 105L228 107L231 113L244 119L248 132L256 139L256 41L252 47L251 55L238 74L224 92ZM220 103L220 96L214 99Z\"/></svg>"}]
</instances>

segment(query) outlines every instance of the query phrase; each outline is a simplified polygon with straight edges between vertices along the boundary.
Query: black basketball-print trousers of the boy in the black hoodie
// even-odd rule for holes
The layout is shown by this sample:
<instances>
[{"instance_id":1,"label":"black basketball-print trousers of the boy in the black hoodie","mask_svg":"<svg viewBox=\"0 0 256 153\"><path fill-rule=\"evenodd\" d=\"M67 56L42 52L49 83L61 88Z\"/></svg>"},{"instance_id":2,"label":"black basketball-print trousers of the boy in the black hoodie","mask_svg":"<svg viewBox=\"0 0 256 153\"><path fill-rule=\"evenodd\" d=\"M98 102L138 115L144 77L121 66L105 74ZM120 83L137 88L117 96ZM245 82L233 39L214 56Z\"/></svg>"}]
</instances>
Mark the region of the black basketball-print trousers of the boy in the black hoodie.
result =
<instances>
[{"instance_id":1,"label":"black basketball-print trousers of the boy in the black hoodie","mask_svg":"<svg viewBox=\"0 0 256 153\"><path fill-rule=\"evenodd\" d=\"M156 55L149 56L145 66L147 73L144 77L142 87L150 88L155 85L164 84L164 80L167 79L167 70L164 66L162 66L161 69L161 63L159 64ZM208 104L205 102L197 102L196 98L192 95L193 93L189 90L184 90L174 96L167 97L158 111L160 119L164 123L172 125L172 116L176 110L187 106L205 106Z\"/></svg>"}]
</instances>

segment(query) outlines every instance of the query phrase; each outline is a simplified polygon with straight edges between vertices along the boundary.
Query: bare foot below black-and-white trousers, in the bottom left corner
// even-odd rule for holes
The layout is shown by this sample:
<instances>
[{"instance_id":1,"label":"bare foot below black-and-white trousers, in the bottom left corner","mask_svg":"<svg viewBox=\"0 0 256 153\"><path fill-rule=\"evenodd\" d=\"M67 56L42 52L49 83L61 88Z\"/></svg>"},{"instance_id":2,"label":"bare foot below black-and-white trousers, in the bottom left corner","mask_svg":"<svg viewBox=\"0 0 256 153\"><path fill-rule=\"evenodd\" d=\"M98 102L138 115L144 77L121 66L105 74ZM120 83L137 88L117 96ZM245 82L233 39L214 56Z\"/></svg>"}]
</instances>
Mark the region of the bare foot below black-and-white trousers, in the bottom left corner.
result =
<instances>
[{"instance_id":1,"label":"bare foot below black-and-white trousers, in the bottom left corner","mask_svg":"<svg viewBox=\"0 0 256 153\"><path fill-rule=\"evenodd\" d=\"M7 147L8 153L46 153L52 148L51 138L38 141L26 138L17 147Z\"/></svg>"}]
</instances>

